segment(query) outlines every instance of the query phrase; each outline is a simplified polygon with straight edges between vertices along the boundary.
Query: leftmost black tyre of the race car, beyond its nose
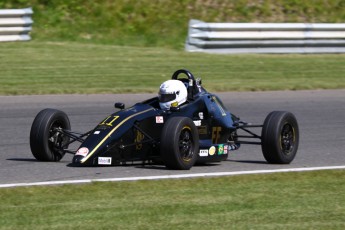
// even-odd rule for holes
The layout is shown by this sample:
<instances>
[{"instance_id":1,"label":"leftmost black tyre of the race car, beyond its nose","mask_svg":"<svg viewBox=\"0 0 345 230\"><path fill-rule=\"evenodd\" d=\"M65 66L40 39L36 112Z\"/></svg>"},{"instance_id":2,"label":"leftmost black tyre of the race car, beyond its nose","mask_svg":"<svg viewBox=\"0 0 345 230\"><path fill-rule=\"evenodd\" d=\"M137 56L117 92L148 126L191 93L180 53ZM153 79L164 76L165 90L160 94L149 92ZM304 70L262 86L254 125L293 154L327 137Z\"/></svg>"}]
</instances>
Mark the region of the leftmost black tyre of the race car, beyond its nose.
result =
<instances>
[{"instance_id":1,"label":"leftmost black tyre of the race car, beyond its nose","mask_svg":"<svg viewBox=\"0 0 345 230\"><path fill-rule=\"evenodd\" d=\"M71 125L67 115L56 109L44 109L35 117L30 131L30 148L39 161L60 161L65 155L63 147L69 142L69 137L57 131L70 130Z\"/></svg>"}]
</instances>

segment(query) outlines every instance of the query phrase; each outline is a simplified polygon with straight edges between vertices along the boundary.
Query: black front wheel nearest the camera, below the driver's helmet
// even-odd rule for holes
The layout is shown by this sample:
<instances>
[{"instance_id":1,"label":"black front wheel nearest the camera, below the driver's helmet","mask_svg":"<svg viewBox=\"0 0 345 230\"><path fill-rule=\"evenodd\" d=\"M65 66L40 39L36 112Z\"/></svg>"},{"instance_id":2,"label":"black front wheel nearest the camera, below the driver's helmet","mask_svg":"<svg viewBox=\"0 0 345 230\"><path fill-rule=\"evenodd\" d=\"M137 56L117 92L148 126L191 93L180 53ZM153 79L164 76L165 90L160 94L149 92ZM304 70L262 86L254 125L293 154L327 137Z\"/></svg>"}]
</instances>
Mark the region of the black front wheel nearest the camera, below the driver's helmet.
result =
<instances>
[{"instance_id":1,"label":"black front wheel nearest the camera, below the driver's helmet","mask_svg":"<svg viewBox=\"0 0 345 230\"><path fill-rule=\"evenodd\" d=\"M169 169L189 170L199 152L198 131L190 118L173 117L164 125L160 152Z\"/></svg>"}]
</instances>

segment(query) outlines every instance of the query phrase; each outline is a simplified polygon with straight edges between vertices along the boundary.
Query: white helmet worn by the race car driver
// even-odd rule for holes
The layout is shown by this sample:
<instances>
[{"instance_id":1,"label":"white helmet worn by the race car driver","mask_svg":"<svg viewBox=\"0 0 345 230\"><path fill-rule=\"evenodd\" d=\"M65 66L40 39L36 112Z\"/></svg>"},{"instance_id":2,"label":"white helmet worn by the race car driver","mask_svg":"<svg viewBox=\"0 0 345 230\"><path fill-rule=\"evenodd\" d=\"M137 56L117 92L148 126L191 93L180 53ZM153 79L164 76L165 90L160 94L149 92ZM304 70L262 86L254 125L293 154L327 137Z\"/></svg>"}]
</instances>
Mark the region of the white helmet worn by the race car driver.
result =
<instances>
[{"instance_id":1,"label":"white helmet worn by the race car driver","mask_svg":"<svg viewBox=\"0 0 345 230\"><path fill-rule=\"evenodd\" d=\"M187 88L179 80L168 80L159 87L158 97L161 109L168 110L187 100Z\"/></svg>"}]
</instances>

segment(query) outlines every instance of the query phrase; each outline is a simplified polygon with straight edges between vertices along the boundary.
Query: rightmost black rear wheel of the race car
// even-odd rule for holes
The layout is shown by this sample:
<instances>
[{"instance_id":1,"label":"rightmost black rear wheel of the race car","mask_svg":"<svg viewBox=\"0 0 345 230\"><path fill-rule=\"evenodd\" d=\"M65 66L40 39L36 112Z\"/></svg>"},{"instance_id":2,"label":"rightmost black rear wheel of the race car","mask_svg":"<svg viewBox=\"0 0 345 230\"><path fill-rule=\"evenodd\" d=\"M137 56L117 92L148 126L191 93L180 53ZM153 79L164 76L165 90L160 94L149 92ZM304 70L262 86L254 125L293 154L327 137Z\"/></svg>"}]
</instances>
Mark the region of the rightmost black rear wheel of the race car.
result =
<instances>
[{"instance_id":1,"label":"rightmost black rear wheel of the race car","mask_svg":"<svg viewBox=\"0 0 345 230\"><path fill-rule=\"evenodd\" d=\"M289 164L299 143L296 117L290 112L271 112L264 121L261 138L262 153L268 163Z\"/></svg>"}]
</instances>

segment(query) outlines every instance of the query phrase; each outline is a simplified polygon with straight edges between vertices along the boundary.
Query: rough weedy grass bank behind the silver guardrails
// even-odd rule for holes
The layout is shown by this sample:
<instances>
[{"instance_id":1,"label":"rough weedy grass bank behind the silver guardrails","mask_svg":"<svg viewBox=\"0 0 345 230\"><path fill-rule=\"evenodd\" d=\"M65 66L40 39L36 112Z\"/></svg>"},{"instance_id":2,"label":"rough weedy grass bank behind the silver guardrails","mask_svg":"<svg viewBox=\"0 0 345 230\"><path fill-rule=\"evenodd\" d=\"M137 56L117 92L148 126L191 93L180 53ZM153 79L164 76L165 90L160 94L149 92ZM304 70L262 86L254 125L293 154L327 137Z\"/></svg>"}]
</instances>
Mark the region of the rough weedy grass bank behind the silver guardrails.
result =
<instances>
[{"instance_id":1,"label":"rough weedy grass bank behind the silver guardrails","mask_svg":"<svg viewBox=\"0 0 345 230\"><path fill-rule=\"evenodd\" d=\"M32 36L183 49L192 18L206 22L339 22L344 0L1 0L1 8L33 7Z\"/></svg>"}]
</instances>

